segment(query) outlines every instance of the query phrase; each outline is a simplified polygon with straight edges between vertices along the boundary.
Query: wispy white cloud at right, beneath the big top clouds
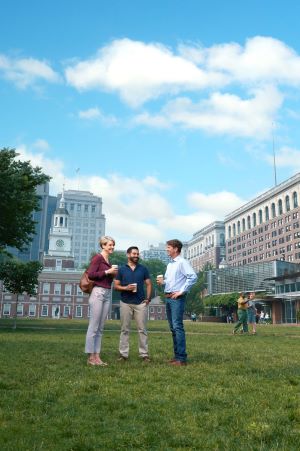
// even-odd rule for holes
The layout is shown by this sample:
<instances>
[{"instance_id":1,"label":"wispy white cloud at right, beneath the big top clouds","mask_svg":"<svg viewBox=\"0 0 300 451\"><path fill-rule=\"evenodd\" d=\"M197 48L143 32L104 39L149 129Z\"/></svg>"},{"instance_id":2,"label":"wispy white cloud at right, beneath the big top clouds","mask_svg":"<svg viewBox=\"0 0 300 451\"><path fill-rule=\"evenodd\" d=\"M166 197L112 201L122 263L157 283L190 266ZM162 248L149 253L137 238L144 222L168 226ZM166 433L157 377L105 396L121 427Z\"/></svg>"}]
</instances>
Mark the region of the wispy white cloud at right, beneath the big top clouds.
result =
<instances>
[{"instance_id":1,"label":"wispy white cloud at right, beneath the big top clouds","mask_svg":"<svg viewBox=\"0 0 300 451\"><path fill-rule=\"evenodd\" d=\"M150 127L180 125L212 134L264 139L271 134L272 122L282 101L282 95L272 86L253 91L252 97L247 99L216 92L198 103L187 97L172 100L161 113L153 116L142 113L134 121Z\"/></svg>"}]
</instances>

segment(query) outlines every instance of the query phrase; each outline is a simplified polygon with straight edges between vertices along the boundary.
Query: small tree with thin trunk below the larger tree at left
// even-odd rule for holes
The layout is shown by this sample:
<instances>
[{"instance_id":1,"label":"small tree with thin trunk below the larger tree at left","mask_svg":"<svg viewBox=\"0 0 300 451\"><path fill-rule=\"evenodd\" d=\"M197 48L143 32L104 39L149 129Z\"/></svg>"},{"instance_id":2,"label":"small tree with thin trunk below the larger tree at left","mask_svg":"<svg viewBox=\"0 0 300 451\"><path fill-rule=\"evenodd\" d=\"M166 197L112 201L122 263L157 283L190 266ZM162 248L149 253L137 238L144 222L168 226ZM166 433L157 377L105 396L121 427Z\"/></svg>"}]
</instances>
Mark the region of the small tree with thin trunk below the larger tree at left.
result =
<instances>
[{"instance_id":1,"label":"small tree with thin trunk below the larger tree at left","mask_svg":"<svg viewBox=\"0 0 300 451\"><path fill-rule=\"evenodd\" d=\"M40 262L23 263L15 259L8 260L0 265L0 279L3 281L5 289L16 295L14 329L17 328L19 295L27 293L33 296L36 294L38 276L42 268Z\"/></svg>"}]
</instances>

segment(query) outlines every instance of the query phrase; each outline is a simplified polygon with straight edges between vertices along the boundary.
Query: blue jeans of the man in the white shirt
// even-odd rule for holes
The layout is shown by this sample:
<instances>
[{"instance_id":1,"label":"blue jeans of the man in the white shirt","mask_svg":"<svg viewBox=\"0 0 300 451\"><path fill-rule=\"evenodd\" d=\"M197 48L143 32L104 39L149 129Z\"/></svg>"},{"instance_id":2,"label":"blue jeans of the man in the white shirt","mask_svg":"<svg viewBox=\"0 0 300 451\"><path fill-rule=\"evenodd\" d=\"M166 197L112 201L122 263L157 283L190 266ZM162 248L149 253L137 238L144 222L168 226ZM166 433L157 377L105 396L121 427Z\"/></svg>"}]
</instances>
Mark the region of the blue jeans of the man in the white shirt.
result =
<instances>
[{"instance_id":1,"label":"blue jeans of the man in the white shirt","mask_svg":"<svg viewBox=\"0 0 300 451\"><path fill-rule=\"evenodd\" d=\"M167 318L173 337L174 357L181 362L186 362L187 359L183 327L184 304L185 296L177 299L166 299Z\"/></svg>"}]
</instances>

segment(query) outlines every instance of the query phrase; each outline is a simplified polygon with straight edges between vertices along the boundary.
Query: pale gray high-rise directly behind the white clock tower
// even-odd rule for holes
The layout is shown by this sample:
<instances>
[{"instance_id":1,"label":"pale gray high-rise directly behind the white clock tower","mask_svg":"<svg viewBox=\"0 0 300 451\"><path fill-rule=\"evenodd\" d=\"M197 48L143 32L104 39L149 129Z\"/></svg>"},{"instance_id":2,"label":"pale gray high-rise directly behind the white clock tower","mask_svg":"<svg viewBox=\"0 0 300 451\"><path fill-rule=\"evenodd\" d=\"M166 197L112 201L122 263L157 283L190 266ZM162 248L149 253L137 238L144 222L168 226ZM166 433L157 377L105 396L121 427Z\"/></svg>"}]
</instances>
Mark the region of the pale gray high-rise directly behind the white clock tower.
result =
<instances>
[{"instance_id":1,"label":"pale gray high-rise directly behind the white clock tower","mask_svg":"<svg viewBox=\"0 0 300 451\"><path fill-rule=\"evenodd\" d=\"M62 195L58 195L58 205ZM99 249L99 237L105 235L105 216L102 198L89 191L64 191L65 208L69 213L72 253L75 266L80 268Z\"/></svg>"}]
</instances>

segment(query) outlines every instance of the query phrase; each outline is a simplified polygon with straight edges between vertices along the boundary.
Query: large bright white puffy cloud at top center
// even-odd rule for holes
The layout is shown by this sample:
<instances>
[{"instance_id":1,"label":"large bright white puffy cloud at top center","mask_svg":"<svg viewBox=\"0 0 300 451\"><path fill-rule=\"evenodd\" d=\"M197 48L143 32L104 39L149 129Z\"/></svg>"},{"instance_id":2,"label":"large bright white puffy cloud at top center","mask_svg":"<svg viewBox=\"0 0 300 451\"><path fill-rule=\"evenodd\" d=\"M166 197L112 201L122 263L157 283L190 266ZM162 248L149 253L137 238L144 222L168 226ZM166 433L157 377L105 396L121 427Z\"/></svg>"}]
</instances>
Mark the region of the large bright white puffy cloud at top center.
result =
<instances>
[{"instance_id":1,"label":"large bright white puffy cloud at top center","mask_svg":"<svg viewBox=\"0 0 300 451\"><path fill-rule=\"evenodd\" d=\"M130 39L115 40L101 48L94 58L69 65L65 76L78 90L118 92L133 107L164 93L224 83L222 74L203 71L161 44Z\"/></svg>"}]
</instances>

